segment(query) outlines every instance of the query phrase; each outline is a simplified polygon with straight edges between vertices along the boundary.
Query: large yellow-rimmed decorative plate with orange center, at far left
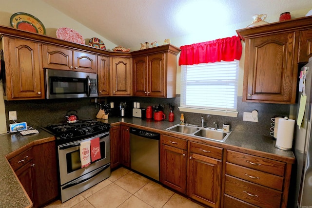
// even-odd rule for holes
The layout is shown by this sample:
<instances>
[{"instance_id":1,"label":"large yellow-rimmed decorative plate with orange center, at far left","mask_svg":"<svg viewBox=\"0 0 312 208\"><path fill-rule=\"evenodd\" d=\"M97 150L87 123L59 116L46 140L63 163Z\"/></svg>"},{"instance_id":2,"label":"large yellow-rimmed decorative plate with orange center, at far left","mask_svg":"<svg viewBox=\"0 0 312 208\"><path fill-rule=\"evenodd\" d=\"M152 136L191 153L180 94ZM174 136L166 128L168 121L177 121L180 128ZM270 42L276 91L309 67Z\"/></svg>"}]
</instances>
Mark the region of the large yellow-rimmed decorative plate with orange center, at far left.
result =
<instances>
[{"instance_id":1,"label":"large yellow-rimmed decorative plate with orange center, at far left","mask_svg":"<svg viewBox=\"0 0 312 208\"><path fill-rule=\"evenodd\" d=\"M11 26L16 29L45 35L44 25L33 15L17 12L11 16L10 23Z\"/></svg>"}]
</instances>

